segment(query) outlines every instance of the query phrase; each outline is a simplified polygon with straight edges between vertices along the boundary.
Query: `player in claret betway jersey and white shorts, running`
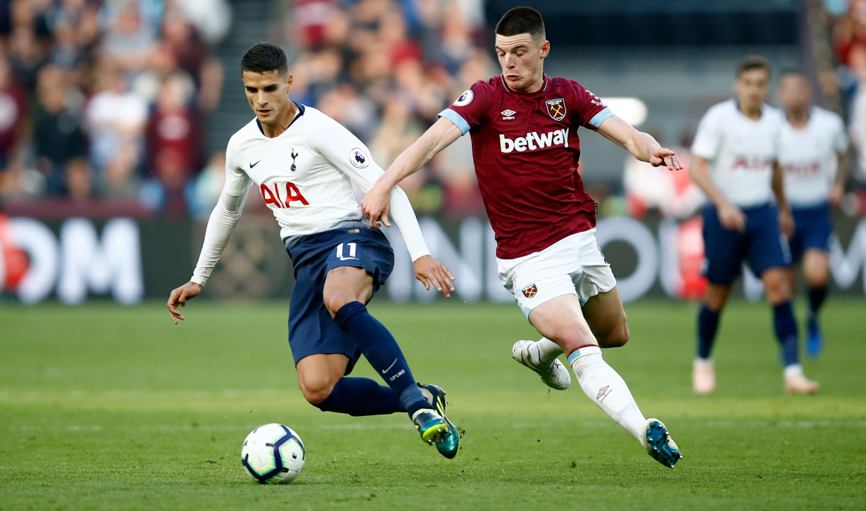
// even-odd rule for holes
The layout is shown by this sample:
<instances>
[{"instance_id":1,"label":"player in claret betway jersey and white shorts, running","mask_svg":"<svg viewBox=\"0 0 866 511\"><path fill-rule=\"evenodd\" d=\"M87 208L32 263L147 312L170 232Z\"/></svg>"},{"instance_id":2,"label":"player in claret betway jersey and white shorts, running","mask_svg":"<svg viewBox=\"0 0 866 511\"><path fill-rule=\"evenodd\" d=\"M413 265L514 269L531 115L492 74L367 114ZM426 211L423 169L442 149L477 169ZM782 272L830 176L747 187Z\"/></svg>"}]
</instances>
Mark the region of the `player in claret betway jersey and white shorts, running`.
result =
<instances>
[{"instance_id":1,"label":"player in claret betway jersey and white shorts, running","mask_svg":"<svg viewBox=\"0 0 866 511\"><path fill-rule=\"evenodd\" d=\"M502 74L478 81L378 178L361 203L374 226L388 225L388 194L437 152L466 133L475 173L496 235L502 284L533 327L538 342L520 340L515 360L556 389L571 377L565 352L591 401L665 466L682 458L668 430L647 419L599 346L629 339L617 281L595 239L595 204L578 174L578 128L598 131L652 165L682 168L674 152L611 113L577 81L544 74L550 52L537 10L517 7L496 25Z\"/></svg>"}]
</instances>

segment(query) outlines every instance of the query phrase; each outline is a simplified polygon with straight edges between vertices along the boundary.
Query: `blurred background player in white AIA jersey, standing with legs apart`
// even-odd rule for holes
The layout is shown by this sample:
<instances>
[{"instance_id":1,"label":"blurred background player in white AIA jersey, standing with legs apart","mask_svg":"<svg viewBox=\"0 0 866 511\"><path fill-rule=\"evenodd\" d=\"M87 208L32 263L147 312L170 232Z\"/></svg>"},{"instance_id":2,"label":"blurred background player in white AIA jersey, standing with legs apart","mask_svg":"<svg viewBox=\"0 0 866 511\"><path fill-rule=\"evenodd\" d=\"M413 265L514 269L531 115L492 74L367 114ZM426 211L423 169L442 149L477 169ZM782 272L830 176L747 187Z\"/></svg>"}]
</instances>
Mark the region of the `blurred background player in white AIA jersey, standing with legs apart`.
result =
<instances>
[{"instance_id":1,"label":"blurred background player in white AIA jersey, standing with legs apart","mask_svg":"<svg viewBox=\"0 0 866 511\"><path fill-rule=\"evenodd\" d=\"M769 87L766 59L755 56L741 62L734 81L736 99L709 109L692 146L689 173L709 199L703 213L707 297L698 314L692 372L692 386L699 394L715 390L710 354L721 309L744 260L764 281L766 299L772 305L773 327L785 365L785 391L818 391L818 384L805 378L799 363L788 280L791 255L785 240L785 235L792 235L793 221L778 164L783 120L778 111L764 104Z\"/></svg>"}]
</instances>

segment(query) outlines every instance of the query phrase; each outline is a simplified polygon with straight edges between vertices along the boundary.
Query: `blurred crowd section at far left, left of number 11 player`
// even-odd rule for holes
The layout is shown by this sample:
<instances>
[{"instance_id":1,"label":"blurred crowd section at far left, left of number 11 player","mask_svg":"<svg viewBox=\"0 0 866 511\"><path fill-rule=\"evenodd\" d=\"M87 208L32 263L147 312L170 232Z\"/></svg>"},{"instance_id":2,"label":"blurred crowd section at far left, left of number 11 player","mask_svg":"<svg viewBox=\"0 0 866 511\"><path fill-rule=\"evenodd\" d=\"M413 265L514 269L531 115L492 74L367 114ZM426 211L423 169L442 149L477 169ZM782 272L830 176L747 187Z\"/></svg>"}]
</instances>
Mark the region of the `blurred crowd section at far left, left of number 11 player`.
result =
<instances>
[{"instance_id":1,"label":"blurred crowd section at far left, left of number 11 player","mask_svg":"<svg viewBox=\"0 0 866 511\"><path fill-rule=\"evenodd\" d=\"M0 0L0 197L184 209L225 0Z\"/></svg>"}]
</instances>

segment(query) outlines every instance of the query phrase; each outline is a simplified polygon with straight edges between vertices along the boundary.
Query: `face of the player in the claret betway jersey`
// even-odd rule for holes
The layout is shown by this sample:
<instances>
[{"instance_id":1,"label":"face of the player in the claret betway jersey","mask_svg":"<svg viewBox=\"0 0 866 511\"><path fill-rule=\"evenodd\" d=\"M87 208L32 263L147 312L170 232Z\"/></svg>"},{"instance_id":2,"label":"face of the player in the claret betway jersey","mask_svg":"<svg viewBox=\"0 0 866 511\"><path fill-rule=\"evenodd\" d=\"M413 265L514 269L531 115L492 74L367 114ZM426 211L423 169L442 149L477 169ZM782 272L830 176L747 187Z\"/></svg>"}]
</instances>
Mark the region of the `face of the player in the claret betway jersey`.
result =
<instances>
[{"instance_id":1,"label":"face of the player in the claret betway jersey","mask_svg":"<svg viewBox=\"0 0 866 511\"><path fill-rule=\"evenodd\" d=\"M496 34L495 48L508 87L520 92L534 92L541 87L550 42L535 41L529 34Z\"/></svg>"}]
</instances>

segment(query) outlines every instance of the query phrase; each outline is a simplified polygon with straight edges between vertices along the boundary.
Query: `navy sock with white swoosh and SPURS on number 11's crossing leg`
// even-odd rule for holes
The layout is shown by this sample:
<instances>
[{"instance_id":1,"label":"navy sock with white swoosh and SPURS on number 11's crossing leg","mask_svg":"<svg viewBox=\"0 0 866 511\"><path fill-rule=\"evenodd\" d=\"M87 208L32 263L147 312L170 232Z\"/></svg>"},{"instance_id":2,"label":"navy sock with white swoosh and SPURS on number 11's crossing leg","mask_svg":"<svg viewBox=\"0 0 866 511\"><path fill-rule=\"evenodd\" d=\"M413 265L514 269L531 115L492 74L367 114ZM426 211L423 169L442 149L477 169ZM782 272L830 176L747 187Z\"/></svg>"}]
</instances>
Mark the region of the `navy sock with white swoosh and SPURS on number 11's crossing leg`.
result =
<instances>
[{"instance_id":1,"label":"navy sock with white swoosh and SPURS on number 11's crossing leg","mask_svg":"<svg viewBox=\"0 0 866 511\"><path fill-rule=\"evenodd\" d=\"M385 325L367 312L363 303L347 303L340 307L333 320L343 332L352 335L365 359L382 375L391 390L397 393L400 403L410 416L422 408L430 408L427 399L415 384L415 378L412 377L400 346L397 346L397 340L394 340Z\"/></svg>"}]
</instances>

